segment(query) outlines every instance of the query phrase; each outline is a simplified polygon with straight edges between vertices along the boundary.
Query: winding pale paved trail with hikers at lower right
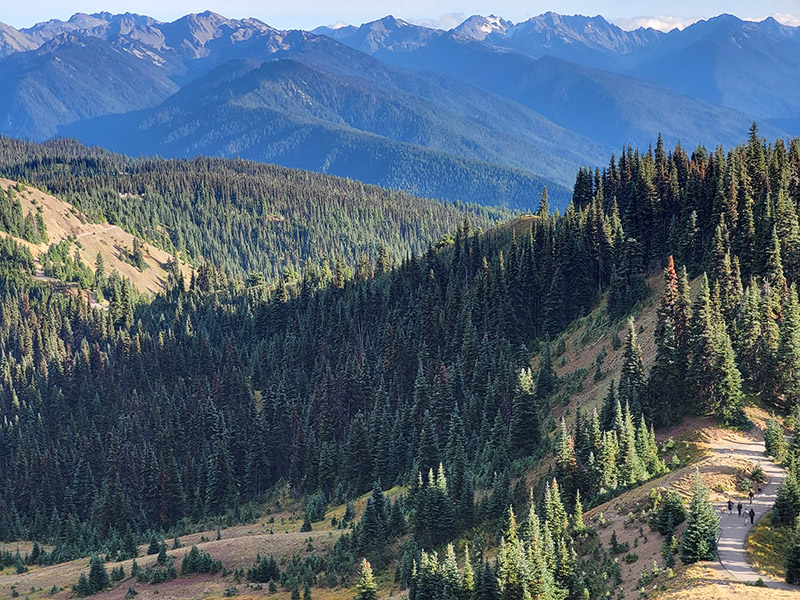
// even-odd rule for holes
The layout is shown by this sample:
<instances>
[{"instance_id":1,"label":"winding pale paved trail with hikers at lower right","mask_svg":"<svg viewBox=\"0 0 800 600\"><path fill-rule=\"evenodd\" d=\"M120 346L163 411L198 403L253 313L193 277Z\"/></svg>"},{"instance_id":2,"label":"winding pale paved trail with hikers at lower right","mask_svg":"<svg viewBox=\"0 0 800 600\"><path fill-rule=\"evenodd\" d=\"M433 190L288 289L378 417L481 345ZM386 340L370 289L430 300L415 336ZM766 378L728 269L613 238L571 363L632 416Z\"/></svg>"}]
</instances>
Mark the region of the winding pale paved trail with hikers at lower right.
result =
<instances>
[{"instance_id":1,"label":"winding pale paved trail with hikers at lower right","mask_svg":"<svg viewBox=\"0 0 800 600\"><path fill-rule=\"evenodd\" d=\"M740 440L741 441L713 443L711 447L714 449L714 452L726 456L745 458L754 463L760 463L764 468L764 471L769 477L769 483L762 486L761 493L755 495L752 504L749 504L747 500L742 502L744 504L744 511L749 511L750 508L755 511L755 521L757 523L765 514L772 510L778 486L786 476L786 471L764 455L763 440L744 437L740 438ZM718 510L721 509L722 505L718 505L717 508ZM744 511L742 512L744 513ZM735 503L733 514L728 514L727 506L725 506L725 514L720 515L720 535L718 544L719 562L724 571L727 572L731 579L737 581L752 582L760 578L770 588L800 592L800 588L782 581L770 579L758 573L750 566L747 560L745 544L747 542L747 534L752 527L749 518L745 519L744 515L741 518L738 516Z\"/></svg>"}]
</instances>

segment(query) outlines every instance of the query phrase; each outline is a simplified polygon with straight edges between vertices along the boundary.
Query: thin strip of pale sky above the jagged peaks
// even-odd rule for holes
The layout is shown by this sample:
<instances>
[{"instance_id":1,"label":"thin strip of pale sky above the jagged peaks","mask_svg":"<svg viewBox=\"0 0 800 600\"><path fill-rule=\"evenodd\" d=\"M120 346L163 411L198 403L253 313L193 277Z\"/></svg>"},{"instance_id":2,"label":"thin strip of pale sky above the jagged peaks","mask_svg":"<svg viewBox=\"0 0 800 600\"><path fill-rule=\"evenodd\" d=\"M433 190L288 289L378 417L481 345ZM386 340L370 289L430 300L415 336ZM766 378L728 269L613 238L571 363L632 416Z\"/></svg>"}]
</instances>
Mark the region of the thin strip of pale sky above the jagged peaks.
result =
<instances>
[{"instance_id":1,"label":"thin strip of pale sky above the jagged peaks","mask_svg":"<svg viewBox=\"0 0 800 600\"><path fill-rule=\"evenodd\" d=\"M387 14L408 21L452 27L473 14L496 14L514 22L552 10L602 14L623 27L685 26L698 18L732 13L743 19L800 25L800 0L0 0L0 21L28 27L76 12L135 12L170 21L190 12L213 10L227 17L257 17L281 29L360 24Z\"/></svg>"}]
</instances>

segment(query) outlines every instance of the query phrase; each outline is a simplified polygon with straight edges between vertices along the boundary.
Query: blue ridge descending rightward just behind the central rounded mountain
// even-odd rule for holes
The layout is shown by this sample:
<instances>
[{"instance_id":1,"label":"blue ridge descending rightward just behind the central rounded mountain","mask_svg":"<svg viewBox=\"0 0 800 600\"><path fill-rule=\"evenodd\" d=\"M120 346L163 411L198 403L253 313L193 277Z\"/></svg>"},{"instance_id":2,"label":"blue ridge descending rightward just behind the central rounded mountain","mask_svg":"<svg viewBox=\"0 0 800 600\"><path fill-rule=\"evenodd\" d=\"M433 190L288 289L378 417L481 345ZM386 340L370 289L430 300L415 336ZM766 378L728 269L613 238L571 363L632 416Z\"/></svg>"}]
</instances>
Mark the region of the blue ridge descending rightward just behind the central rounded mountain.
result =
<instances>
[{"instance_id":1,"label":"blue ridge descending rightward just behind the central rounded mountain","mask_svg":"<svg viewBox=\"0 0 800 600\"><path fill-rule=\"evenodd\" d=\"M424 43L419 26L392 21L385 47L369 48L381 60L407 69L434 71L469 81L540 113L549 120L602 144L647 146L661 133L678 141L732 144L741 139L753 115L676 93L628 75L587 67L545 55L528 55L476 41L460 32L435 32ZM364 49L366 31L382 31L386 19L362 25L341 41ZM408 30L408 42L402 33ZM373 49L374 48L374 49ZM767 127L767 135L781 135Z\"/></svg>"}]
</instances>

